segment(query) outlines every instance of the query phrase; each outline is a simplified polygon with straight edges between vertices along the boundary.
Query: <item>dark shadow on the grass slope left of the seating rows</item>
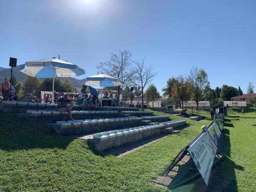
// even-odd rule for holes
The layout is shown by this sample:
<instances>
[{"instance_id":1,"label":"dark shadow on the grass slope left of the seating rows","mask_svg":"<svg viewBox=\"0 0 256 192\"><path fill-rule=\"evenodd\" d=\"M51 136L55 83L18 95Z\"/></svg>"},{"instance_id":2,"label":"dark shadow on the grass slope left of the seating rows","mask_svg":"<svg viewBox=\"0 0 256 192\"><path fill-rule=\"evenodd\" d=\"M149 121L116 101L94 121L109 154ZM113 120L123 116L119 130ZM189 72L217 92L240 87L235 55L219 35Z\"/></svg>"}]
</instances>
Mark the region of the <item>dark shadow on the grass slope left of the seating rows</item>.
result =
<instances>
[{"instance_id":1,"label":"dark shadow on the grass slope left of the seating rows","mask_svg":"<svg viewBox=\"0 0 256 192\"><path fill-rule=\"evenodd\" d=\"M0 149L66 148L74 138L56 135L52 127L27 122L11 113L0 113Z\"/></svg>"}]
</instances>

